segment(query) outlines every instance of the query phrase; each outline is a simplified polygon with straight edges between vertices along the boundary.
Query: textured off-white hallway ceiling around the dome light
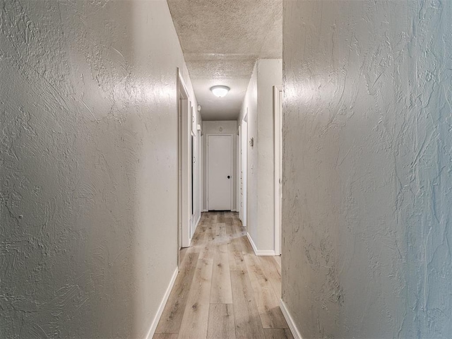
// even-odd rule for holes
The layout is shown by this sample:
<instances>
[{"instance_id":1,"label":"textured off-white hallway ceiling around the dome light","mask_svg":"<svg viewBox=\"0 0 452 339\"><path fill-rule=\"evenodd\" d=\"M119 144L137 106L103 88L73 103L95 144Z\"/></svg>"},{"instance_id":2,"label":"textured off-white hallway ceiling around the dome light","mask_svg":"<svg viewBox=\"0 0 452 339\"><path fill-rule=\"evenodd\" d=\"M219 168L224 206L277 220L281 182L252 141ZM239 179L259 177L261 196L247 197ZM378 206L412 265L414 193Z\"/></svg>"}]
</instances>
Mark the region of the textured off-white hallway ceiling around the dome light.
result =
<instances>
[{"instance_id":1,"label":"textured off-white hallway ceiling around the dome light","mask_svg":"<svg viewBox=\"0 0 452 339\"><path fill-rule=\"evenodd\" d=\"M203 120L237 119L256 59L283 52L282 0L167 0ZM215 97L213 85L231 88Z\"/></svg>"}]
</instances>

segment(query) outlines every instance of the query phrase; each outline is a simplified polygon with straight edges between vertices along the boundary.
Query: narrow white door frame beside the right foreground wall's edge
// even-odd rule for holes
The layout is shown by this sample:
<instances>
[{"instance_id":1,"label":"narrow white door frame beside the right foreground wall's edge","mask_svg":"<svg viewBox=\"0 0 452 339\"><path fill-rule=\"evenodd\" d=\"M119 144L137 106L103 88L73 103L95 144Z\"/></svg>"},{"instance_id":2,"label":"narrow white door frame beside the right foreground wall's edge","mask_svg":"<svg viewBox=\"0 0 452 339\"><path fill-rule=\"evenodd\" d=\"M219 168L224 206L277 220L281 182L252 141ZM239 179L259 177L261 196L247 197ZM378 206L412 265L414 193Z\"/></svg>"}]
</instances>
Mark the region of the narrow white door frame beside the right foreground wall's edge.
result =
<instances>
[{"instance_id":1,"label":"narrow white door frame beside the right foreground wall's edge","mask_svg":"<svg viewBox=\"0 0 452 339\"><path fill-rule=\"evenodd\" d=\"M283 109L282 109L283 90L273 86L273 119L275 126L275 256L281 254L281 207L282 198L282 174L283 174Z\"/></svg>"}]
</instances>

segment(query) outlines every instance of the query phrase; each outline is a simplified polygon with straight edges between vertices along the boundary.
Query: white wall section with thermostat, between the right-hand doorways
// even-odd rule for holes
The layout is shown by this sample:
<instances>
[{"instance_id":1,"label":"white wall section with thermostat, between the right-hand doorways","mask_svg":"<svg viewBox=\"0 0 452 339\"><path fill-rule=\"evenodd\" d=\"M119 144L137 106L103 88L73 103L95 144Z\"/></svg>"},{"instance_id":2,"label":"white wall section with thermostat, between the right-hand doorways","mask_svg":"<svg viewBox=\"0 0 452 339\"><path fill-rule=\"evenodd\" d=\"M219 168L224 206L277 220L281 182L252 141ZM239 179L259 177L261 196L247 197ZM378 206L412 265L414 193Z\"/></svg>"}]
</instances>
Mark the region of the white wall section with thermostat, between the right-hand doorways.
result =
<instances>
[{"instance_id":1,"label":"white wall section with thermostat, between the right-hand doorways","mask_svg":"<svg viewBox=\"0 0 452 339\"><path fill-rule=\"evenodd\" d=\"M248 109L247 227L259 251L275 249L273 86L281 88L282 71L281 59L256 62L239 117L242 124Z\"/></svg>"}]
</instances>

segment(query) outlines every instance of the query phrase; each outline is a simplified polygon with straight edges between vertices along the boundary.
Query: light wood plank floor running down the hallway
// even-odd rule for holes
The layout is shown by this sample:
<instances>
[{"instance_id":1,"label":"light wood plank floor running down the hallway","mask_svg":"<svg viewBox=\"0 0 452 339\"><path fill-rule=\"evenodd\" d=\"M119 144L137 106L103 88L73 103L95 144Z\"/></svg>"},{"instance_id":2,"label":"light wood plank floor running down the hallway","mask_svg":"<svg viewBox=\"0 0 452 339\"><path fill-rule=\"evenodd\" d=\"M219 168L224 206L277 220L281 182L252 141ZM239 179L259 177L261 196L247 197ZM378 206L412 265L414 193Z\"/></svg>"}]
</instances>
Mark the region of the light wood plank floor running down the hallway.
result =
<instances>
[{"instance_id":1,"label":"light wood plank floor running down the hallway","mask_svg":"<svg viewBox=\"0 0 452 339\"><path fill-rule=\"evenodd\" d=\"M203 213L154 339L293 339L279 257L255 256L234 212Z\"/></svg>"}]
</instances>

